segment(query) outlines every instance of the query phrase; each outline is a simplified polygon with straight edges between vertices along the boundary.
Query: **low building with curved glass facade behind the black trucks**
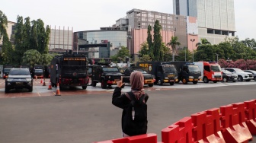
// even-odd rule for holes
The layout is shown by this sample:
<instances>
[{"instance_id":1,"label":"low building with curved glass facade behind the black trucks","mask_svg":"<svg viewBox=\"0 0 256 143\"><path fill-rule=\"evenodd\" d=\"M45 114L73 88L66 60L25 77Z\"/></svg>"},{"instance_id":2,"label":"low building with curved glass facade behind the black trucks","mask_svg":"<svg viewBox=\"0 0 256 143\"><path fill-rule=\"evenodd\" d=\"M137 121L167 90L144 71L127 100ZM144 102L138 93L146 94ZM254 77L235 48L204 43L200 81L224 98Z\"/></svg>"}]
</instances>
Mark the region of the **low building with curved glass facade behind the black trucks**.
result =
<instances>
[{"instance_id":1,"label":"low building with curved glass facade behind the black trucks","mask_svg":"<svg viewBox=\"0 0 256 143\"><path fill-rule=\"evenodd\" d=\"M110 58L110 52L127 47L126 30L88 30L74 33L74 52L85 52L89 59Z\"/></svg>"}]
</instances>

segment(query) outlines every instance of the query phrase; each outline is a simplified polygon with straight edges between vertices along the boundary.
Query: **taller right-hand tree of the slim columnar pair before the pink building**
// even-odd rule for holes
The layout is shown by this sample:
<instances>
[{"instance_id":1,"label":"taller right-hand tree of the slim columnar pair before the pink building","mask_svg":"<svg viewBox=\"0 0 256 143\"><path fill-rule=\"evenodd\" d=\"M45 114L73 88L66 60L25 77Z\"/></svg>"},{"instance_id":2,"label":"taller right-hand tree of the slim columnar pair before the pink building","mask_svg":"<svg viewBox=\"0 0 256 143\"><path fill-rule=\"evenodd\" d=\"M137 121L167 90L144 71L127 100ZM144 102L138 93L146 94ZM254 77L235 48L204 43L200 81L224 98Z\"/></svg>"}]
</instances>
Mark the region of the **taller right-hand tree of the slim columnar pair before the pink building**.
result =
<instances>
[{"instance_id":1,"label":"taller right-hand tree of the slim columnar pair before the pink building","mask_svg":"<svg viewBox=\"0 0 256 143\"><path fill-rule=\"evenodd\" d=\"M153 41L153 54L154 54L154 58L153 61L160 61L161 57L160 57L160 52L161 52L161 47L162 47L162 36L161 36L161 29L162 26L159 24L159 21L156 20L155 21L155 25L154 25L154 41Z\"/></svg>"}]
</instances>

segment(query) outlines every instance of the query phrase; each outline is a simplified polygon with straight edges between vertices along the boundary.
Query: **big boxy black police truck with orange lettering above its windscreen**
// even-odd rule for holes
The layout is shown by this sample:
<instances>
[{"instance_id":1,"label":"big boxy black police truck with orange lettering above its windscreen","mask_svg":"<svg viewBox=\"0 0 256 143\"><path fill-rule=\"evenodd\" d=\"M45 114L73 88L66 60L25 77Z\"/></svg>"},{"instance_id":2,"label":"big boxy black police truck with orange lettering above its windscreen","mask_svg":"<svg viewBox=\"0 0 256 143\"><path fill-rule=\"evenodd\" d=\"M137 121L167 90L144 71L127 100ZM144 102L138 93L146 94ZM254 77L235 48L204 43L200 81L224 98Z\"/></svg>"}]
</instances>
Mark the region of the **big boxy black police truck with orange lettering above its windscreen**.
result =
<instances>
[{"instance_id":1,"label":"big boxy black police truck with orange lettering above its windscreen","mask_svg":"<svg viewBox=\"0 0 256 143\"><path fill-rule=\"evenodd\" d=\"M87 57L70 52L55 56L50 64L50 81L53 87L59 83L59 90L77 86L86 89L89 82Z\"/></svg>"}]
</instances>

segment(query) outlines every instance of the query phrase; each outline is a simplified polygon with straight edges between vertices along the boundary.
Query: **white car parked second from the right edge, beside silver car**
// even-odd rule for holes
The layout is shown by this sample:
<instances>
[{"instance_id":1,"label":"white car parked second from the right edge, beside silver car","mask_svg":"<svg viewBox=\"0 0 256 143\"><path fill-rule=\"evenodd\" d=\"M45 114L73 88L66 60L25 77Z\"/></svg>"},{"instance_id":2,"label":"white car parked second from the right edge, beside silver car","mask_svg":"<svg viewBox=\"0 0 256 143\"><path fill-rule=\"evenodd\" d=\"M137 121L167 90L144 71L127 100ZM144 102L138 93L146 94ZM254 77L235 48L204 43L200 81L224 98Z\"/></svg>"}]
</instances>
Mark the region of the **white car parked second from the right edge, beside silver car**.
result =
<instances>
[{"instance_id":1,"label":"white car parked second from the right edge, beside silver car","mask_svg":"<svg viewBox=\"0 0 256 143\"><path fill-rule=\"evenodd\" d=\"M225 68L227 71L232 72L233 74L238 75L238 81L251 81L254 79L254 76L250 72L242 71L240 68Z\"/></svg>"}]
</instances>

